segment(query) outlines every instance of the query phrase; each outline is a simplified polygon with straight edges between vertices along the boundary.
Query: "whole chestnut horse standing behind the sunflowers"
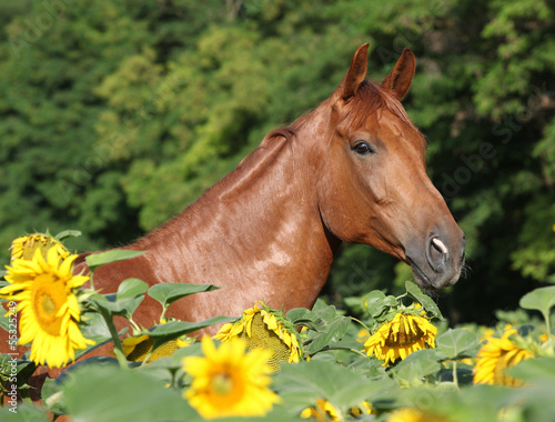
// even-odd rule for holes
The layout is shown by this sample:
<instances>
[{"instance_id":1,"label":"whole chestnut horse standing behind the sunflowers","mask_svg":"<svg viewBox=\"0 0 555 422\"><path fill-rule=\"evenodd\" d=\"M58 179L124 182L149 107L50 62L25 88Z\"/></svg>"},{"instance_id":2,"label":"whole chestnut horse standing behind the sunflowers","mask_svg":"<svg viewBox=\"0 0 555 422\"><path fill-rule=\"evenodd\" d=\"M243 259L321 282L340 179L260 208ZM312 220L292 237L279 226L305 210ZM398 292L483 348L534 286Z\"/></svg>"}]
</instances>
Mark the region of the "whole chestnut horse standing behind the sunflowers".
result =
<instances>
[{"instance_id":1,"label":"whole chestnut horse standing behind the sunflowers","mask_svg":"<svg viewBox=\"0 0 555 422\"><path fill-rule=\"evenodd\" d=\"M122 248L148 253L99 268L94 287L114 292L128 278L222 287L172 304L168 314L185 321L240 315L261 300L311 308L341 242L397 257L426 289L455 283L464 235L426 175L426 141L400 102L414 54L405 49L377 84L365 80L367 48L356 50L327 100L269 133L180 215ZM133 319L152 326L160 313L147 298Z\"/></svg>"}]
</instances>

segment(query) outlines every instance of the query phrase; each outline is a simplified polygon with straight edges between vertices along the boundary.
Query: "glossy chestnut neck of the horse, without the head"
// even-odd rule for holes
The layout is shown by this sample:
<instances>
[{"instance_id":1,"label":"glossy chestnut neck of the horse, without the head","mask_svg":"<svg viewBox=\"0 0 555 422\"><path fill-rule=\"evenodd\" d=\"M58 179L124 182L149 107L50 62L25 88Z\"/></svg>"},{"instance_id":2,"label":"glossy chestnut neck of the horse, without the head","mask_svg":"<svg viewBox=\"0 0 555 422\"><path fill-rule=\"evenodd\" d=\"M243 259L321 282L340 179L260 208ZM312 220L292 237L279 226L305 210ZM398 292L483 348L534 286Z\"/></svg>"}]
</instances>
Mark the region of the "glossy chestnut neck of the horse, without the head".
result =
<instances>
[{"instance_id":1,"label":"glossy chestnut neck of the horse, without the head","mask_svg":"<svg viewBox=\"0 0 555 422\"><path fill-rule=\"evenodd\" d=\"M268 279L266 284L283 290L290 279L304 289L305 303L299 305L311 307L340 242L320 217L315 171L301 139L306 131L300 130L296 138L286 130L268 135L232 173L131 249L158 249L158 255L172 257L172 265L186 265L175 272L193 279L213 280L214 265L224 262L225 275L215 284L233 283L238 274L253 282ZM209 261L213 273L203 274L200 269ZM272 294L278 293L265 291L264 298Z\"/></svg>"}]
</instances>

